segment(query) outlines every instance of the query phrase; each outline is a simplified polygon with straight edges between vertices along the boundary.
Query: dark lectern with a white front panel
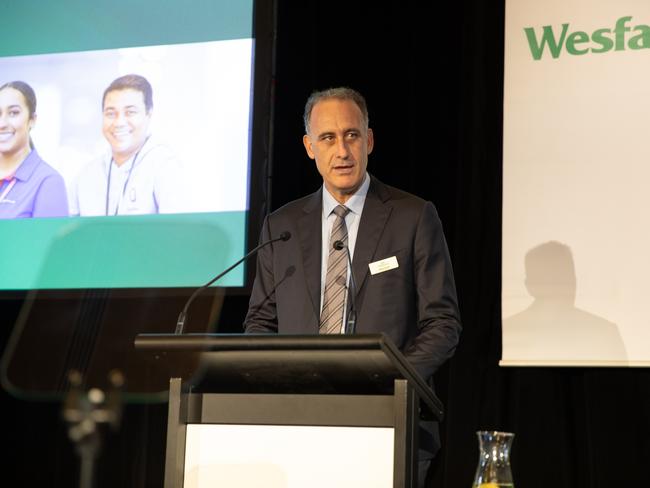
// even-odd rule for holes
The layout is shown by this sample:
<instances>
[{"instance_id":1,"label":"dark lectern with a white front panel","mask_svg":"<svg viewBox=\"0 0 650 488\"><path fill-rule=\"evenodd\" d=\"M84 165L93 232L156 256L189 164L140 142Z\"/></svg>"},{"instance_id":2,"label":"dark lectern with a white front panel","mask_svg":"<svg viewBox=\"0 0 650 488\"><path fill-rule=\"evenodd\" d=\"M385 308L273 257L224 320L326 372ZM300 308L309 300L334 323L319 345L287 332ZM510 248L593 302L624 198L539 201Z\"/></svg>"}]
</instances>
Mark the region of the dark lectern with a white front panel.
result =
<instances>
[{"instance_id":1,"label":"dark lectern with a white front panel","mask_svg":"<svg viewBox=\"0 0 650 488\"><path fill-rule=\"evenodd\" d=\"M441 402L385 335L141 334L172 377L165 488L415 487ZM173 371L173 368L172 368Z\"/></svg>"}]
</instances>

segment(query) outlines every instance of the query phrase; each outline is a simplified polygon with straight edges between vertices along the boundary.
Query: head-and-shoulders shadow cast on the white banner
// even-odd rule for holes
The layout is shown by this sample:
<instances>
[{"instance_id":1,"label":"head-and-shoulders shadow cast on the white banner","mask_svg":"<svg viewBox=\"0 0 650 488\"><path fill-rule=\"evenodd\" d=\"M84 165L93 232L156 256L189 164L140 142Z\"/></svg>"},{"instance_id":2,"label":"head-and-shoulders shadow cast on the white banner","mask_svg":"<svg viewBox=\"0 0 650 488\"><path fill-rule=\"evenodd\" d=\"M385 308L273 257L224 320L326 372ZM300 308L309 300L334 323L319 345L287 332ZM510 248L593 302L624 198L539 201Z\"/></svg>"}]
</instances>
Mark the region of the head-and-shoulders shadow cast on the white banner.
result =
<instances>
[{"instance_id":1,"label":"head-and-shoulders shadow cast on the white banner","mask_svg":"<svg viewBox=\"0 0 650 488\"><path fill-rule=\"evenodd\" d=\"M503 320L504 361L625 363L615 323L575 306L576 273L569 246L550 241L526 253L526 289L533 303Z\"/></svg>"}]
</instances>

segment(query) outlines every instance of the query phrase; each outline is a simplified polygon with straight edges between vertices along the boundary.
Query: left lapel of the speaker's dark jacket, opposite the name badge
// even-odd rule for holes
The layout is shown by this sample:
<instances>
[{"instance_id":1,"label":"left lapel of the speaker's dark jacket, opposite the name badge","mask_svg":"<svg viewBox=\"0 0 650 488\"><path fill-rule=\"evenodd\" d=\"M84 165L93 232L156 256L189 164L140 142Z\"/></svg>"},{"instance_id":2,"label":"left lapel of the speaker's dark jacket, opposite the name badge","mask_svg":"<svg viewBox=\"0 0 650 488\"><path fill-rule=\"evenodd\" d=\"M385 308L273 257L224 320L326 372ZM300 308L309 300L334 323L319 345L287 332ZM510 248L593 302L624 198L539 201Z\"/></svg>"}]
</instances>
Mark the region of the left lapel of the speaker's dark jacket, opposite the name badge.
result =
<instances>
[{"instance_id":1,"label":"left lapel of the speaker's dark jacket, opposite the name badge","mask_svg":"<svg viewBox=\"0 0 650 488\"><path fill-rule=\"evenodd\" d=\"M312 194L307 200L303 207L303 214L298 220L305 281L317 321L320 315L321 214L323 208L321 191L322 189Z\"/></svg>"}]
</instances>

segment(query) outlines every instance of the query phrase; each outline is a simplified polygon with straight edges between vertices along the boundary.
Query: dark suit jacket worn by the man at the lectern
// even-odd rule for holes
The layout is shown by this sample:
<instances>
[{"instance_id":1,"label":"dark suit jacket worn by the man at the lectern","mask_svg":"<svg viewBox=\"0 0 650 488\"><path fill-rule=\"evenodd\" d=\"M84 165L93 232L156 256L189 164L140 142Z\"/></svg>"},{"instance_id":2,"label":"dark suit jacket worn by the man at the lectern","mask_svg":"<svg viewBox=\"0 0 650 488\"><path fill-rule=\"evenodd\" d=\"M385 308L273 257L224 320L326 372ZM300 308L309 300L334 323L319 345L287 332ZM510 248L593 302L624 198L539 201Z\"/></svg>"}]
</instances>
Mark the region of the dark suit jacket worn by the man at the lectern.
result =
<instances>
[{"instance_id":1,"label":"dark suit jacket worn by the man at the lectern","mask_svg":"<svg viewBox=\"0 0 650 488\"><path fill-rule=\"evenodd\" d=\"M269 215L246 332L318 334L322 189ZM369 263L395 256L399 267L370 274ZM435 207L371 177L352 262L357 285L356 332L388 335L428 380L449 358L461 326L454 277ZM350 302L350 300L348 300Z\"/></svg>"}]
</instances>

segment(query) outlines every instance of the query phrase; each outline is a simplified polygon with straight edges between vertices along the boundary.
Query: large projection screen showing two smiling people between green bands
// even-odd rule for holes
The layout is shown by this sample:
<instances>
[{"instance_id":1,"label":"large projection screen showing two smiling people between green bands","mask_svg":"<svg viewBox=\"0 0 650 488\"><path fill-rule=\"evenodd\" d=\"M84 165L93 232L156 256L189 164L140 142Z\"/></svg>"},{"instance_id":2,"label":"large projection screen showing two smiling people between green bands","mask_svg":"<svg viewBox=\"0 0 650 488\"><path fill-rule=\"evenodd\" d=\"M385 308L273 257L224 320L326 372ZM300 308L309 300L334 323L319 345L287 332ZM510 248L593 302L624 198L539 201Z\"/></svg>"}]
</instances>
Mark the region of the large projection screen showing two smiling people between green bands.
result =
<instances>
[{"instance_id":1,"label":"large projection screen showing two smiling people between green bands","mask_svg":"<svg viewBox=\"0 0 650 488\"><path fill-rule=\"evenodd\" d=\"M39 168L61 182L0 174L0 290L194 287L245 253L253 0L5 2L0 14L0 86L33 88ZM153 90L146 127L111 127L105 90L130 75ZM4 157L15 131L0 115ZM117 167L136 130L146 143ZM219 284L242 286L244 268Z\"/></svg>"}]
</instances>

